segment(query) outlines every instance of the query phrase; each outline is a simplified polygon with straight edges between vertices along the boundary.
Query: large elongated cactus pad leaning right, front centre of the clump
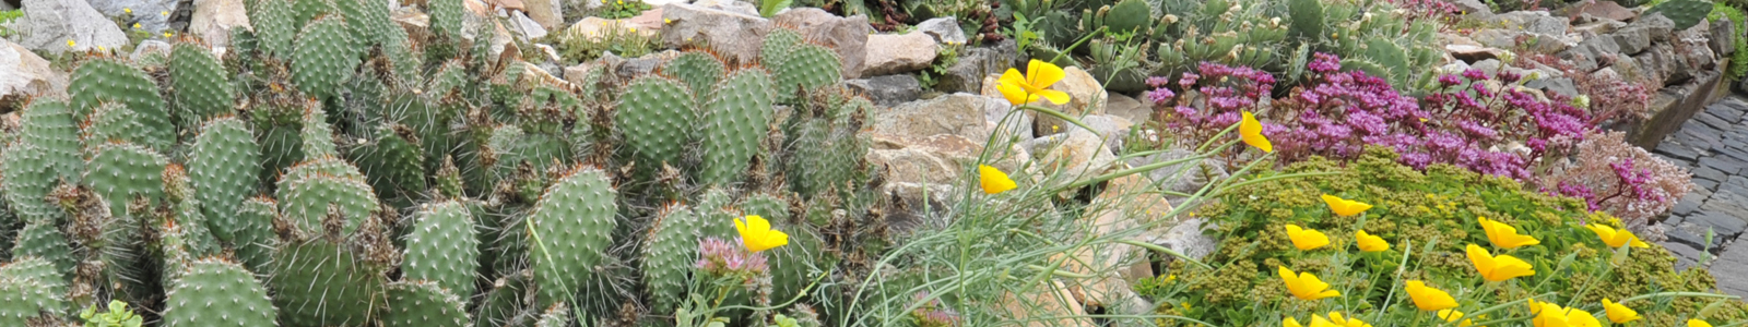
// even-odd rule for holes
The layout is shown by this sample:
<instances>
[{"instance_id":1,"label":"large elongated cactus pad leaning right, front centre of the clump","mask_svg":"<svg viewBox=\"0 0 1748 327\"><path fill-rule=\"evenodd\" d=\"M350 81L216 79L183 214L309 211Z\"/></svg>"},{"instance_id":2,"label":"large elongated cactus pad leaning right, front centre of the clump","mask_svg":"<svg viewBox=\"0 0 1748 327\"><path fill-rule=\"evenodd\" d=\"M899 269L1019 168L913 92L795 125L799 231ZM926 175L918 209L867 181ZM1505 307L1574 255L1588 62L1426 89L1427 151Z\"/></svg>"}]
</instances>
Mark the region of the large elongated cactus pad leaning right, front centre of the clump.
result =
<instances>
[{"instance_id":1,"label":"large elongated cactus pad leaning right, front centre of the clump","mask_svg":"<svg viewBox=\"0 0 1748 327\"><path fill-rule=\"evenodd\" d=\"M572 299L614 244L619 205L607 172L577 169L561 177L528 216L528 259L538 285L537 306Z\"/></svg>"}]
</instances>

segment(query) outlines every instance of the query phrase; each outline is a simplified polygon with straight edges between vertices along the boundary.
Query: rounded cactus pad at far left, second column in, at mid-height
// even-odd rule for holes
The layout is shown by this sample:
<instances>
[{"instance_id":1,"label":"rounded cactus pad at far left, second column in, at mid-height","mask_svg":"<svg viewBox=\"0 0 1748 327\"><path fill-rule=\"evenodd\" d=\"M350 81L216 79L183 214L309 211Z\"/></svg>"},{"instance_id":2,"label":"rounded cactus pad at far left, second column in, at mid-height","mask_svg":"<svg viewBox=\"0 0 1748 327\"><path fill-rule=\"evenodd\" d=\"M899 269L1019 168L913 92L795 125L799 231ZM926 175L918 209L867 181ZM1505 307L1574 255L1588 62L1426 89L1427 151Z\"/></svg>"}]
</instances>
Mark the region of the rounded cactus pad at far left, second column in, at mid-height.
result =
<instances>
[{"instance_id":1,"label":"rounded cactus pad at far left, second column in, at mid-height","mask_svg":"<svg viewBox=\"0 0 1748 327\"><path fill-rule=\"evenodd\" d=\"M164 155L129 143L103 143L86 162L86 186L103 197L110 214L129 214L128 202L143 197L152 204L164 198Z\"/></svg>"}]
</instances>

